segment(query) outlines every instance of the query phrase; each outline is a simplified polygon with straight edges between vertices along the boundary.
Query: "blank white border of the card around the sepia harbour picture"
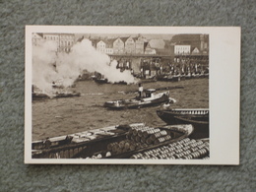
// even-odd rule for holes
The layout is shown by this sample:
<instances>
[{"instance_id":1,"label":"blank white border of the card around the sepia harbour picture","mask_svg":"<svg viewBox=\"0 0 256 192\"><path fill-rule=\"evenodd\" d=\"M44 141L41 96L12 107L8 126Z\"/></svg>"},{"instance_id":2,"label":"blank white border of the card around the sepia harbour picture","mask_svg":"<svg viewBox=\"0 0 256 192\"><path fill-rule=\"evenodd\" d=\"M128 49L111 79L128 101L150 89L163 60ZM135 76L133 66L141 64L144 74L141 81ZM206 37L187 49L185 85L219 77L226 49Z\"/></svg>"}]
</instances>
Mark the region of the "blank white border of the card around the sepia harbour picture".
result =
<instances>
[{"instance_id":1,"label":"blank white border of the card around the sepia harbour picture","mask_svg":"<svg viewBox=\"0 0 256 192\"><path fill-rule=\"evenodd\" d=\"M209 160L32 159L32 32L209 34ZM240 27L26 26L25 163L239 164ZM110 126L110 125L109 125ZM100 127L99 127L100 128Z\"/></svg>"}]
</instances>

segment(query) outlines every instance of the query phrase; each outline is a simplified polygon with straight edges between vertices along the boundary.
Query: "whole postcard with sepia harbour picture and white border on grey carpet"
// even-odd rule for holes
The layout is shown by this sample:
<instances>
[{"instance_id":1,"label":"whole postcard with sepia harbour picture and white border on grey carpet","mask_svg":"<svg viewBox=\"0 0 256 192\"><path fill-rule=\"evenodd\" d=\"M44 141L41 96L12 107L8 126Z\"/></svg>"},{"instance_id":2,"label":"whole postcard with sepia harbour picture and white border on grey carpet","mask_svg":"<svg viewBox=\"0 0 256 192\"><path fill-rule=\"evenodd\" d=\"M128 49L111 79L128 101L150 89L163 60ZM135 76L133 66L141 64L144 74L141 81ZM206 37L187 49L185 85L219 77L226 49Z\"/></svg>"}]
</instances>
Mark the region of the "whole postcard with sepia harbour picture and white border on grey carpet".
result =
<instances>
[{"instance_id":1,"label":"whole postcard with sepia harbour picture and white border on grey carpet","mask_svg":"<svg viewBox=\"0 0 256 192\"><path fill-rule=\"evenodd\" d=\"M25 163L239 164L240 31L26 26Z\"/></svg>"}]
</instances>

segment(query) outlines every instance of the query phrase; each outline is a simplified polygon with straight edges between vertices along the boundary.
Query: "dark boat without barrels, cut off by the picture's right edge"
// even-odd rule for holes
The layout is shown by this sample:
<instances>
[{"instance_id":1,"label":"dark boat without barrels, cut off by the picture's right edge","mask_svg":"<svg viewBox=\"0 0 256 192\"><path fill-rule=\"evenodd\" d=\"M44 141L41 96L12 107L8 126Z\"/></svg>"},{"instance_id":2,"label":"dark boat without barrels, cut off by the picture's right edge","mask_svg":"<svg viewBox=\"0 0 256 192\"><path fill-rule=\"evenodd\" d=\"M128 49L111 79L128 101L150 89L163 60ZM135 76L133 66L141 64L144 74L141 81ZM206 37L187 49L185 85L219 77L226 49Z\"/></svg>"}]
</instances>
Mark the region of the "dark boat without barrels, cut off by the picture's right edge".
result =
<instances>
[{"instance_id":1,"label":"dark boat without barrels, cut off by the picture's right edge","mask_svg":"<svg viewBox=\"0 0 256 192\"><path fill-rule=\"evenodd\" d=\"M169 125L192 124L194 126L193 138L209 137L209 109L166 109L157 110L160 119Z\"/></svg>"}]
</instances>

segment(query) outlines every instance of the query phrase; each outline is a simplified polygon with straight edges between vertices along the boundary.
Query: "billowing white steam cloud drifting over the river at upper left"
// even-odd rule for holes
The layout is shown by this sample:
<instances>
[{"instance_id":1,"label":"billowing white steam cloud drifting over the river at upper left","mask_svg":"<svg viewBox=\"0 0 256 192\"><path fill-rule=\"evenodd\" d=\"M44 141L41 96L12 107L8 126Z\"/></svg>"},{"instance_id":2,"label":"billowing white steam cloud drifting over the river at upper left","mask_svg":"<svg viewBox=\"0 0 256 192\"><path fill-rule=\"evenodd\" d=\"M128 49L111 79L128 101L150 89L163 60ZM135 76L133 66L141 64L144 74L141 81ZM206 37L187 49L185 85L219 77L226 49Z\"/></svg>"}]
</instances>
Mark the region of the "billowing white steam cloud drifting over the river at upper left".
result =
<instances>
[{"instance_id":1,"label":"billowing white steam cloud drifting over the river at upper left","mask_svg":"<svg viewBox=\"0 0 256 192\"><path fill-rule=\"evenodd\" d=\"M32 50L32 84L44 93L52 89L52 82L61 80L65 88L71 86L83 70L98 72L109 82L134 83L129 70L116 69L117 61L110 61L108 55L96 51L89 39L76 43L70 53L58 53L57 43L44 41Z\"/></svg>"}]
</instances>

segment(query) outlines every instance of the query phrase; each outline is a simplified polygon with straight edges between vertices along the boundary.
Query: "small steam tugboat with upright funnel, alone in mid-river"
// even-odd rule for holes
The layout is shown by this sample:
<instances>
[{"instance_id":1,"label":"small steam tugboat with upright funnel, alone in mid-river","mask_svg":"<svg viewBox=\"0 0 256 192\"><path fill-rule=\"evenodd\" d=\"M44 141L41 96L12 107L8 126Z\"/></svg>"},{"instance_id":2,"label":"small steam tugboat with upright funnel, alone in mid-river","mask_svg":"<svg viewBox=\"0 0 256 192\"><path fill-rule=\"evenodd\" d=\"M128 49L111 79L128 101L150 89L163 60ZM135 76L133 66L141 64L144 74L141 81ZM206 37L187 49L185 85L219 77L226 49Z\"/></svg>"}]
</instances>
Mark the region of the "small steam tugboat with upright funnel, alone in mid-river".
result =
<instances>
[{"instance_id":1,"label":"small steam tugboat with upright funnel, alone in mid-river","mask_svg":"<svg viewBox=\"0 0 256 192\"><path fill-rule=\"evenodd\" d=\"M168 101L169 92L156 93L155 89L148 89L143 92L144 96L137 96L131 99L118 99L106 101L103 106L110 109L140 108L147 106L160 105Z\"/></svg>"}]
</instances>

